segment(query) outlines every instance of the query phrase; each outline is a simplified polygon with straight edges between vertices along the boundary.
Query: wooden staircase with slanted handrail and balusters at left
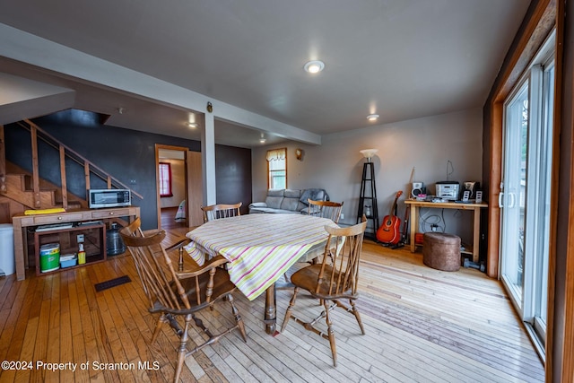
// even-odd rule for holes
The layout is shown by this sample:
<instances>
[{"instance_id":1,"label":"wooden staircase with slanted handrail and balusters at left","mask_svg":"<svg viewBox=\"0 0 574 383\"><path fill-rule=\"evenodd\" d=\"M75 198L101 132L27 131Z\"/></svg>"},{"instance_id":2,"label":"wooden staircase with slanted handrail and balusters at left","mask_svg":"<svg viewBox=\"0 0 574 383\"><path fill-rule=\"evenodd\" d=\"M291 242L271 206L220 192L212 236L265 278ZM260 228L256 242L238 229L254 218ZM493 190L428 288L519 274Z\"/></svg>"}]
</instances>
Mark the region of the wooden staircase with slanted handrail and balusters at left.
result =
<instances>
[{"instance_id":1,"label":"wooden staircase with slanted handrail and balusters at left","mask_svg":"<svg viewBox=\"0 0 574 383\"><path fill-rule=\"evenodd\" d=\"M85 196L90 189L92 177L106 181L108 188L129 188L113 178L105 170L83 158L73 149L60 143L52 135L42 130L30 120L18 123L30 132L31 140L31 171L24 170L5 160L4 126L0 126L0 223L11 223L14 215L21 215L26 210L49 209L62 207L68 209L88 208ZM60 156L60 185L55 185L40 177L38 140L49 144ZM66 159L83 166L85 175L84 196L75 196L67 190ZM132 196L143 198L132 190Z\"/></svg>"}]
</instances>

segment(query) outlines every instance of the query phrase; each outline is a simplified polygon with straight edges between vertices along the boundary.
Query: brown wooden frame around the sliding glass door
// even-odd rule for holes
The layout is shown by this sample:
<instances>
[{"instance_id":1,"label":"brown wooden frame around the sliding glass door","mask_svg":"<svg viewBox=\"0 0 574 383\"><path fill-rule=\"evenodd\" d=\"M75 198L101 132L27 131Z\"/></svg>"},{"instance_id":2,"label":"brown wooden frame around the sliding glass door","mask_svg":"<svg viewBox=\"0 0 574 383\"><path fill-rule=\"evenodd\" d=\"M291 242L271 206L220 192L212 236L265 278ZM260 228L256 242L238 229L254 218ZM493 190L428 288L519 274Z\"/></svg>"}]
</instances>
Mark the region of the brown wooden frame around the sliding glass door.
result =
<instances>
[{"instance_id":1,"label":"brown wooden frame around the sliding glass door","mask_svg":"<svg viewBox=\"0 0 574 383\"><path fill-rule=\"evenodd\" d=\"M571 4L571 2L568 2ZM571 11L570 11L571 12ZM560 213L557 206L559 205L558 188L568 189L569 200L562 205L565 214L572 216L574 205L572 201L571 178L566 182L568 185L561 185L563 180L560 177L561 169L561 128L562 118L566 114L562 110L562 87L564 86L563 74L563 33L565 29L565 2L557 0L535 0L531 3L526 13L525 22L517 32L517 37L513 42L504 64L500 69L494 86L491 90L489 100L485 104L484 110L484 129L488 131L489 137L489 220L488 220L488 251L487 251L487 274L494 278L499 278L499 246L500 246L500 207L496 204L500 194L501 180L501 161L502 161L502 129L503 129L503 103L512 90L517 80L526 70L532 58L552 31L556 28L556 53L555 53L555 89L554 89L554 110L553 110L553 148L552 148L552 201L551 201L551 246L549 254L549 271L548 271L548 311L547 311L547 329L545 344L545 378L546 381L571 381L574 373L574 348L571 347L570 340L574 334L574 279L565 278L566 281L561 284L561 279L568 274L569 270L574 268L571 236L568 235L562 243L567 242L568 255L564 262L568 268L566 272L558 273L557 263L561 257L557 254L557 222L560 220ZM566 98L571 101L570 99ZM571 125L571 121L569 120ZM571 128L571 126L568 126ZM569 135L569 138L571 135ZM567 140L570 144L570 140ZM570 147L571 149L571 147ZM571 152L568 153L570 157ZM564 164L562 164L563 166ZM567 164L568 166L570 164ZM571 169L571 168L570 168ZM558 186L558 187L557 187ZM566 210L568 209L568 210ZM571 220L571 218L570 218ZM570 221L571 222L571 221ZM570 227L570 226L568 226ZM570 231L569 231L570 234ZM562 274L563 273L563 274ZM570 271L571 273L571 271ZM557 293L558 291L558 293ZM558 299L558 300L557 300ZM555 315L560 313L558 317Z\"/></svg>"}]
</instances>

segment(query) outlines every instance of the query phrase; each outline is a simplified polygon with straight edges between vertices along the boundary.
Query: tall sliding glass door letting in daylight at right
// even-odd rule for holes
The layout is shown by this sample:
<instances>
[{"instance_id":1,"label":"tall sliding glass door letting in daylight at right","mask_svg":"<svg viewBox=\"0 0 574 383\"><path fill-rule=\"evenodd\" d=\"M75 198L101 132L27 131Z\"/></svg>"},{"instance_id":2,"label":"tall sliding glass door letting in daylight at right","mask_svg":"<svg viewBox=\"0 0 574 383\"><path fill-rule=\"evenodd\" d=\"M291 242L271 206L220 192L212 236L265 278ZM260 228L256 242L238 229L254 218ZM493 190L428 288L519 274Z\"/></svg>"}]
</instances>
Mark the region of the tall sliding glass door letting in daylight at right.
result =
<instances>
[{"instance_id":1,"label":"tall sliding glass door letting in daylight at right","mask_svg":"<svg viewBox=\"0 0 574 383\"><path fill-rule=\"evenodd\" d=\"M540 351L546 336L553 39L505 103L500 184L500 275Z\"/></svg>"}]
</instances>

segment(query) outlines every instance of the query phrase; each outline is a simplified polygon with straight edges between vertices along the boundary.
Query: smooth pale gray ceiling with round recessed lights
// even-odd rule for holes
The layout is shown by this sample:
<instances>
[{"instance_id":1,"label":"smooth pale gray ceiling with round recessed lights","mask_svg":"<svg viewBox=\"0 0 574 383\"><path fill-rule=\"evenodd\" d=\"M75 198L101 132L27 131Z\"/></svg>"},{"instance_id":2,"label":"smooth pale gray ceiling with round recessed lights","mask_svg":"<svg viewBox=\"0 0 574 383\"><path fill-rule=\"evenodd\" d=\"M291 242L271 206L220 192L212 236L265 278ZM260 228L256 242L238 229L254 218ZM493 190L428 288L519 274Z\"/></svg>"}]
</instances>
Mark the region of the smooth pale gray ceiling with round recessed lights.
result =
<instances>
[{"instance_id":1,"label":"smooth pale gray ceiling with round recessed lights","mask_svg":"<svg viewBox=\"0 0 574 383\"><path fill-rule=\"evenodd\" d=\"M383 124L482 107L529 3L0 0L0 23L325 135L373 125L370 113ZM109 114L109 125L199 138L201 128L184 126L188 109L6 57L0 49L0 72L73 89L74 108ZM305 73L310 59L325 70ZM265 119L238 127L216 112L218 144L257 146L267 130L267 144L293 138Z\"/></svg>"}]
</instances>

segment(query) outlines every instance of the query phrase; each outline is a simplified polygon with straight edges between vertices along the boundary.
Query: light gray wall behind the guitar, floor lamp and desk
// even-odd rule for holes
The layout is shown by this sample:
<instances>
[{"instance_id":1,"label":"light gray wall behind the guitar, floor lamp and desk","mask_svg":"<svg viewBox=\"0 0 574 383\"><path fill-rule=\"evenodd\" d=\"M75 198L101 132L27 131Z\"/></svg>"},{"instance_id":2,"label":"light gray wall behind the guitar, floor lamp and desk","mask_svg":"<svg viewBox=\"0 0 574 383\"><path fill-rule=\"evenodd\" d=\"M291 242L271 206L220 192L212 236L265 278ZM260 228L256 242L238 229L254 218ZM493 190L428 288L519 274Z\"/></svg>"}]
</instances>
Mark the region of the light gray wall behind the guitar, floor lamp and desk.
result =
<instances>
[{"instance_id":1,"label":"light gray wall behind the guitar, floor lamp and desk","mask_svg":"<svg viewBox=\"0 0 574 383\"><path fill-rule=\"evenodd\" d=\"M264 201L267 187L265 152L287 147L287 182L290 188L323 187L332 201L344 201L343 223L355 223L364 159L361 149L376 148L373 158L378 196L379 220L389 212L396 192L403 190L398 215L404 217L404 197L411 187L409 178L422 181L434 194L434 184L447 180L447 163L454 172L449 180L482 183L483 112L469 109L457 113L417 118L360 130L322 136L321 146L288 142L253 150L253 201ZM295 148L305 151L303 161ZM462 185L461 185L462 187ZM441 215L442 210L424 209L422 216ZM447 232L472 242L470 213L446 209Z\"/></svg>"}]
</instances>

